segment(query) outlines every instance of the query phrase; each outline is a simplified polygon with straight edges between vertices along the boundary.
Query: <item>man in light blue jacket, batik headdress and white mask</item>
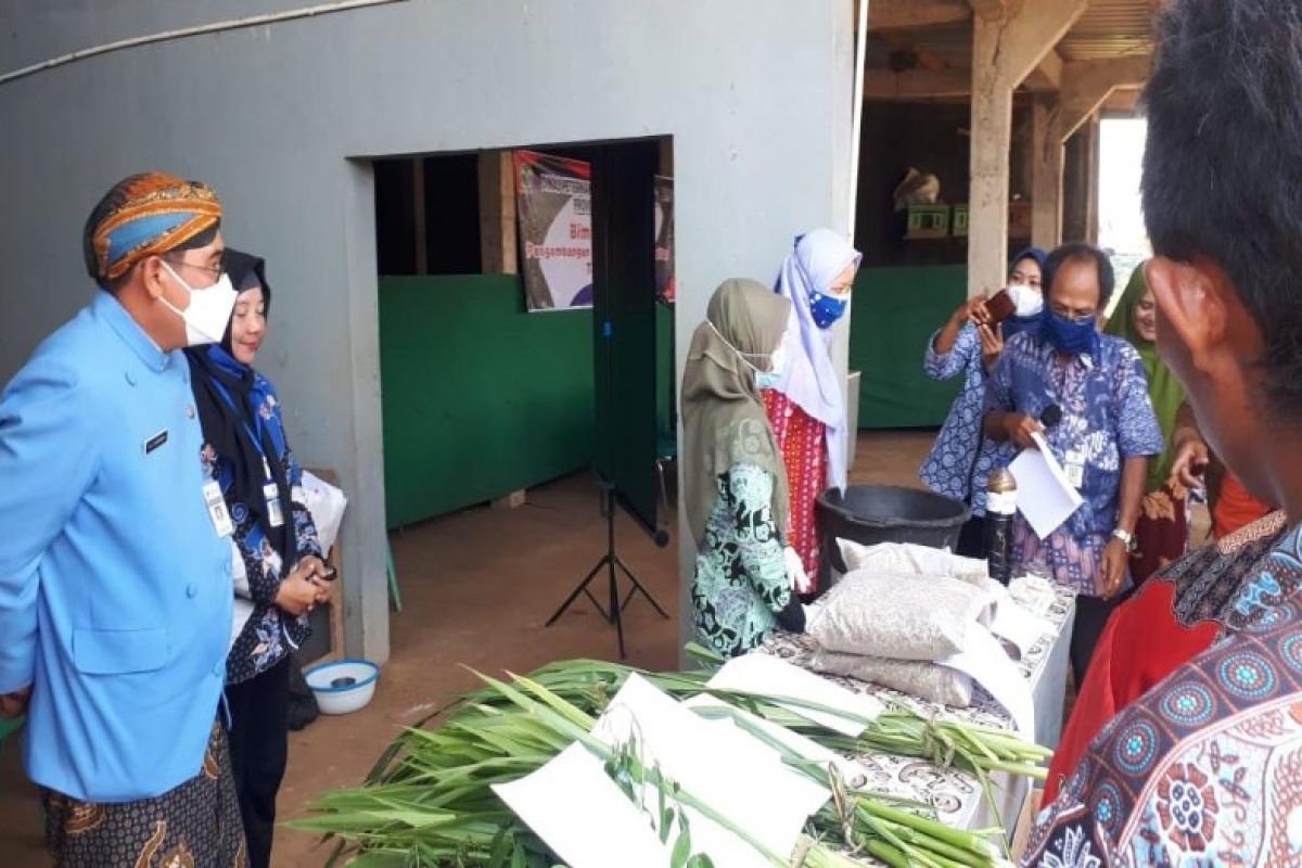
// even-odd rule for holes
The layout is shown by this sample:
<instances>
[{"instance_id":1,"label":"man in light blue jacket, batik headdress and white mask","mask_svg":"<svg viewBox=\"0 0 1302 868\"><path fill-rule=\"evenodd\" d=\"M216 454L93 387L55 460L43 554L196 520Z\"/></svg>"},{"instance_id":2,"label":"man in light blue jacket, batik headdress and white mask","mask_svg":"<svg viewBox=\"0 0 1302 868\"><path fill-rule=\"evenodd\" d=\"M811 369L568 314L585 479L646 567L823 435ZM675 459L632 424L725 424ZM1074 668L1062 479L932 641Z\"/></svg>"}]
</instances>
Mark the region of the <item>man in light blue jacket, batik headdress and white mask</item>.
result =
<instances>
[{"instance_id":1,"label":"man in light blue jacket, batik headdress and white mask","mask_svg":"<svg viewBox=\"0 0 1302 868\"><path fill-rule=\"evenodd\" d=\"M83 238L95 298L0 398L0 713L57 865L245 864L217 703L230 518L204 474L180 351L236 293L221 204L132 176Z\"/></svg>"}]
</instances>

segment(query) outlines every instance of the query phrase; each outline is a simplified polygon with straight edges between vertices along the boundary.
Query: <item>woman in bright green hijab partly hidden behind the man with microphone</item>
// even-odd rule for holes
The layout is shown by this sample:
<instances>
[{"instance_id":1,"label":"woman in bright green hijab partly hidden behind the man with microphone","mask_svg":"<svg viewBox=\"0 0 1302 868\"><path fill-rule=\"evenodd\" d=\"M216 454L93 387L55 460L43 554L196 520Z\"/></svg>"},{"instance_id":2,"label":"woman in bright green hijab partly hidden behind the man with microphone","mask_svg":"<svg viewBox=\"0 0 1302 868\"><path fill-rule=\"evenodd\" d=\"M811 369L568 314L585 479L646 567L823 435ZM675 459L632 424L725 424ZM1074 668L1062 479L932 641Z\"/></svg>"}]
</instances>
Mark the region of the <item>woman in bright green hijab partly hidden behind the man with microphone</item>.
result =
<instances>
[{"instance_id":1,"label":"woman in bright green hijab partly hidden behind the man with microphone","mask_svg":"<svg viewBox=\"0 0 1302 868\"><path fill-rule=\"evenodd\" d=\"M1130 556L1130 574L1135 584L1181 557L1189 545L1189 492L1172 479L1170 472L1174 459L1170 437L1180 405L1185 401L1185 389L1157 355L1157 308L1144 280L1147 264L1142 263L1130 275L1126 292L1104 329L1108 334L1125 338L1139 351L1148 373L1148 396L1167 442L1163 454L1148 462L1147 493L1135 526L1137 550Z\"/></svg>"}]
</instances>

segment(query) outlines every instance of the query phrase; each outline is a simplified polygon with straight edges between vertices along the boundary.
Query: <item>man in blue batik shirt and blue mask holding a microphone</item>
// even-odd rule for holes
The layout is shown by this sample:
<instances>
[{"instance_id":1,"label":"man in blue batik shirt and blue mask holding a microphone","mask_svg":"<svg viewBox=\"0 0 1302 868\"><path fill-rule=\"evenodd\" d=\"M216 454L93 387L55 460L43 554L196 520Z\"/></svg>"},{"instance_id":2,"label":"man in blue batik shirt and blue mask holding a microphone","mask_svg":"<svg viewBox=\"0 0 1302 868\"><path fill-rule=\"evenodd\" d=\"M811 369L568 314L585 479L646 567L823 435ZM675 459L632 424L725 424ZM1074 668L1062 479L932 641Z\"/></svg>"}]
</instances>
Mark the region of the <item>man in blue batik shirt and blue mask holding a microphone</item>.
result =
<instances>
[{"instance_id":1,"label":"man in blue batik shirt and blue mask holding a microphone","mask_svg":"<svg viewBox=\"0 0 1302 868\"><path fill-rule=\"evenodd\" d=\"M1021 514L1013 526L1014 562L1047 569L1078 595L1072 634L1077 685L1130 582L1148 458L1163 449L1139 354L1118 337L1099 334L1113 285L1112 263L1101 250L1055 250L1044 268L1039 329L1008 341L986 384L986 436L1035 449L1034 435L1042 433L1085 501L1043 540Z\"/></svg>"}]
</instances>

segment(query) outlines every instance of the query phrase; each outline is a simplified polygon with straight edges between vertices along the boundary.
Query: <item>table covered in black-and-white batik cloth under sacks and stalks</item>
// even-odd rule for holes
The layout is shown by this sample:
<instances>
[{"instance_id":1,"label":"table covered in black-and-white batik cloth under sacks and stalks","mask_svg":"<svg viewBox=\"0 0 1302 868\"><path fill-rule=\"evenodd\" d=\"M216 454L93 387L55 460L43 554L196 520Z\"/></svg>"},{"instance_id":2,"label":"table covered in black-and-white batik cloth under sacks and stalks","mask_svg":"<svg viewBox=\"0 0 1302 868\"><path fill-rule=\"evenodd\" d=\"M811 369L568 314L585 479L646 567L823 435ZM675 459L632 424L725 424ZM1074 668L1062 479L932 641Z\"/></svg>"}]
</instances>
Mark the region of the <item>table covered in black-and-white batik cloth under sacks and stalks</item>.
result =
<instances>
[{"instance_id":1,"label":"table covered in black-and-white batik cloth under sacks and stalks","mask_svg":"<svg viewBox=\"0 0 1302 868\"><path fill-rule=\"evenodd\" d=\"M1055 588L1057 596L1043 613L1052 630L1042 635L1018 662L1022 675L1031 685L1035 700L1035 740L1046 747L1056 747L1062 731L1062 700L1072 647L1072 619L1075 614L1074 592L1056 586ZM814 671L810 665L814 658L814 640L810 636L779 632L759 649L759 653L775 655ZM1008 713L979 686L974 686L973 704L969 708L950 708L854 678L823 677L855 692L876 696L888 705L907 707L928 717L1013 729ZM967 772L954 768L941 769L926 760L889 753L866 753L854 759L868 774L863 789L930 804L943 822L958 829L988 829L1003 825L1012 835L1022 803L1030 793L1030 782L1026 778L1014 780L1001 772L991 774L999 808L996 819L980 783Z\"/></svg>"}]
</instances>

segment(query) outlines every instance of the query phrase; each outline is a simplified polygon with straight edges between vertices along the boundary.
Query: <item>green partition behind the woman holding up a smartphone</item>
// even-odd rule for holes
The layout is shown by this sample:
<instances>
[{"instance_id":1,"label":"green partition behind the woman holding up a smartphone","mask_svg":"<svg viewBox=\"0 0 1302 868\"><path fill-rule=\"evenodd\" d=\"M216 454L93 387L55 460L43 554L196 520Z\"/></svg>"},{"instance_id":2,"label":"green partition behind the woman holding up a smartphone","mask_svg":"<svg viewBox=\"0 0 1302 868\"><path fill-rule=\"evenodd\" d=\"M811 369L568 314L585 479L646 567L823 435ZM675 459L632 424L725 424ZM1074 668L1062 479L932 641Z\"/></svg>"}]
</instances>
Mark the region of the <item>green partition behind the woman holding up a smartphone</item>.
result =
<instances>
[{"instance_id":1,"label":"green partition behind the woman holding up a smartphone","mask_svg":"<svg viewBox=\"0 0 1302 868\"><path fill-rule=\"evenodd\" d=\"M862 371L859 428L931 428L945 420L960 379L922 371L927 338L967 293L963 265L862 268L854 281L850 370Z\"/></svg>"}]
</instances>

